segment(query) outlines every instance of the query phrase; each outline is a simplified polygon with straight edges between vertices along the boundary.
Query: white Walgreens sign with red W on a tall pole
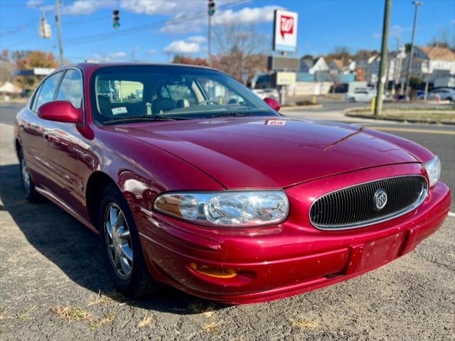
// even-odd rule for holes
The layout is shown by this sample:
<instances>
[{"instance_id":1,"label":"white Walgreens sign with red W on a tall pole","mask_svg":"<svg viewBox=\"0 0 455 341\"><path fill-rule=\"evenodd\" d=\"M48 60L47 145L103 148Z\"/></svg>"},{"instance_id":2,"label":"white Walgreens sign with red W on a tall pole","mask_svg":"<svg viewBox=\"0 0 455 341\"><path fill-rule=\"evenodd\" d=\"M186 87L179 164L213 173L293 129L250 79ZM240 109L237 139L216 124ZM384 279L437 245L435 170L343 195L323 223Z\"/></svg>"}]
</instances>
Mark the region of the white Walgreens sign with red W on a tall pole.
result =
<instances>
[{"instance_id":1,"label":"white Walgreens sign with red W on a tall pole","mask_svg":"<svg viewBox=\"0 0 455 341\"><path fill-rule=\"evenodd\" d=\"M297 47L297 21L295 12L276 9L274 13L273 49L294 52Z\"/></svg>"}]
</instances>

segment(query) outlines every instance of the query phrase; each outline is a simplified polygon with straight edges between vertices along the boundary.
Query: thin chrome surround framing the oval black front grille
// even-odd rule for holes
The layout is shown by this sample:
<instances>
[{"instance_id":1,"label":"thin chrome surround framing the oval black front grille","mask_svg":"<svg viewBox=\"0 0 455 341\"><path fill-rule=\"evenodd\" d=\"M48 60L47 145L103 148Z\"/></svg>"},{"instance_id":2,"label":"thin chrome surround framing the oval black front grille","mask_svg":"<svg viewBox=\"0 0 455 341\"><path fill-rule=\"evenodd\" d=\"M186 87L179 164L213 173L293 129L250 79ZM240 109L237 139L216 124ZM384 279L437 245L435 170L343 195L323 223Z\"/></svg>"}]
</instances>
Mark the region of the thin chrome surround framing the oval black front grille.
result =
<instances>
[{"instance_id":1,"label":"thin chrome surround framing the oval black front grille","mask_svg":"<svg viewBox=\"0 0 455 341\"><path fill-rule=\"evenodd\" d=\"M414 204L410 205L409 207L406 207L405 209L403 209L401 211L392 213L390 215L386 215L384 217L376 218L376 219L373 219L373 220L364 220L362 222L355 222L355 223L351 223L351 224L342 224L342 225L338 225L338 226L337 225L327 225L327 224L316 224L313 221L311 221L311 208L313 207L313 205L319 199L321 199L322 197L325 197L326 195L330 195L331 193L336 193L336 192L339 192L341 190L346 190L348 188L353 188L353 187L365 185L367 183L376 183L378 181L383 181L383 180L388 180L388 179L410 178L410 177L424 179L424 187L422 188L422 191L420 192L419 199L416 202L414 202ZM392 219L395 219L397 217L401 217L402 215L405 215L405 214L411 212L412 210L415 210L417 207L422 205L422 202L424 202L425 198L427 197L427 194L428 194L427 178L425 178L422 175L409 174L409 175L391 176L391 177L388 177L388 178L381 178L381 179L371 180L371 181L367 181L365 183L357 183L357 184L352 185L352 186L339 188L338 190L332 190L331 192L325 193L325 194L321 195L320 197L316 198L316 200L314 200L314 202L310 206L310 209L309 209L309 212L308 212L308 215L309 215L308 218L309 218L309 221L311 222L311 224L314 227L316 227L316 229L321 229L321 230L324 230L324 231L340 231L340 230L343 230L343 229L358 229L360 227L367 227L367 226L371 226L371 225L374 225L374 224L379 224L380 222L387 222L388 220L392 220Z\"/></svg>"}]
</instances>

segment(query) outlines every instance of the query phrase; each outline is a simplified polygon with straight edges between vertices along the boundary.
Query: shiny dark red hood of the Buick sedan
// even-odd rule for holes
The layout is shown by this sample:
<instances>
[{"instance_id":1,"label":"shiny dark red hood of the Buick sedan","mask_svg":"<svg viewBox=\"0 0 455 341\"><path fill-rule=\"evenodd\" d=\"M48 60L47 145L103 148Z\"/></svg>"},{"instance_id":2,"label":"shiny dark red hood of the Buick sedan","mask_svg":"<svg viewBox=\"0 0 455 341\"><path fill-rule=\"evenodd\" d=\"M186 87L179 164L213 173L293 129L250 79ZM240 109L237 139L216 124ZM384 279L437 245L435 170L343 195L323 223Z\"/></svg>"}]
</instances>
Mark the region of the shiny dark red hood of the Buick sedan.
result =
<instances>
[{"instance_id":1,"label":"shiny dark red hood of the Buick sedan","mask_svg":"<svg viewBox=\"0 0 455 341\"><path fill-rule=\"evenodd\" d=\"M301 119L235 117L108 129L172 153L225 188L284 188L337 173L419 162L359 127Z\"/></svg>"}]
</instances>

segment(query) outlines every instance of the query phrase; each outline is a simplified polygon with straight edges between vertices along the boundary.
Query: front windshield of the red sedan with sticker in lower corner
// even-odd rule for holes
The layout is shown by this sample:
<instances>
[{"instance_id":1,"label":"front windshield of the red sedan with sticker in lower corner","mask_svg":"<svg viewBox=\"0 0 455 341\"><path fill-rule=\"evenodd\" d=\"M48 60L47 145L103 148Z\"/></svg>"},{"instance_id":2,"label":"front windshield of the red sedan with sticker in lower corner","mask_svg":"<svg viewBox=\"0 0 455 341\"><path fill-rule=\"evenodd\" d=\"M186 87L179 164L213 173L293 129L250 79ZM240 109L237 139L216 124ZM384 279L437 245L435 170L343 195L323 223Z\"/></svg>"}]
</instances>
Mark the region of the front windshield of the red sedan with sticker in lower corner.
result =
<instances>
[{"instance_id":1,"label":"front windshield of the red sedan with sticker in lower corner","mask_svg":"<svg viewBox=\"0 0 455 341\"><path fill-rule=\"evenodd\" d=\"M91 96L98 124L279 115L222 72L198 67L102 67L92 77Z\"/></svg>"}]
</instances>

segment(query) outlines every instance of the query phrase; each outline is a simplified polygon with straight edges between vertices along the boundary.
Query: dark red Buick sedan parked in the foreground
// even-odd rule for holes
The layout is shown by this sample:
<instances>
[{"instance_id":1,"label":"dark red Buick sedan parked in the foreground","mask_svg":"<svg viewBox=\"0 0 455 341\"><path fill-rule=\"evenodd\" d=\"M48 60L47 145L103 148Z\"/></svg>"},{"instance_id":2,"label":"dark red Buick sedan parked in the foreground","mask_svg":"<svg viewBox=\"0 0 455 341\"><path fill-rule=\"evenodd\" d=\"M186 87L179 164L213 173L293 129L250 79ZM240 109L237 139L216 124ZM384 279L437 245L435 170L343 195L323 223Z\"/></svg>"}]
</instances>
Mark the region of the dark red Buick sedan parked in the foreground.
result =
<instances>
[{"instance_id":1,"label":"dark red Buick sedan parked in the foreground","mask_svg":"<svg viewBox=\"0 0 455 341\"><path fill-rule=\"evenodd\" d=\"M444 222L431 151L277 110L210 68L63 67L17 115L23 188L98 233L133 297L168 283L224 303L283 298L397 259Z\"/></svg>"}]
</instances>

